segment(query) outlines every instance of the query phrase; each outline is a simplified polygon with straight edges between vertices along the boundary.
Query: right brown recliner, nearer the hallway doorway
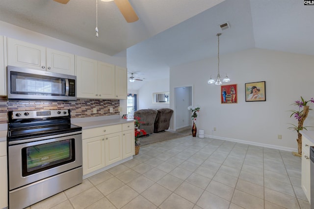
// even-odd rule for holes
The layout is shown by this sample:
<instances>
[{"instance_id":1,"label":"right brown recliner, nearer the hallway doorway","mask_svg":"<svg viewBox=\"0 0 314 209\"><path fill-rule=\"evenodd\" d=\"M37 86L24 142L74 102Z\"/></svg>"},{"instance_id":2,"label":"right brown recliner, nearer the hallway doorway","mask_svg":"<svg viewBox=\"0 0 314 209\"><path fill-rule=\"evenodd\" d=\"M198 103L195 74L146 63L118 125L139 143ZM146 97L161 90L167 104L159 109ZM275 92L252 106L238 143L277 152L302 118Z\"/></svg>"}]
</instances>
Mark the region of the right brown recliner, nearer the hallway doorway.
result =
<instances>
[{"instance_id":1,"label":"right brown recliner, nearer the hallway doorway","mask_svg":"<svg viewBox=\"0 0 314 209\"><path fill-rule=\"evenodd\" d=\"M154 133L169 129L172 114L173 110L169 108L157 110L157 116L154 123Z\"/></svg>"}]
</instances>

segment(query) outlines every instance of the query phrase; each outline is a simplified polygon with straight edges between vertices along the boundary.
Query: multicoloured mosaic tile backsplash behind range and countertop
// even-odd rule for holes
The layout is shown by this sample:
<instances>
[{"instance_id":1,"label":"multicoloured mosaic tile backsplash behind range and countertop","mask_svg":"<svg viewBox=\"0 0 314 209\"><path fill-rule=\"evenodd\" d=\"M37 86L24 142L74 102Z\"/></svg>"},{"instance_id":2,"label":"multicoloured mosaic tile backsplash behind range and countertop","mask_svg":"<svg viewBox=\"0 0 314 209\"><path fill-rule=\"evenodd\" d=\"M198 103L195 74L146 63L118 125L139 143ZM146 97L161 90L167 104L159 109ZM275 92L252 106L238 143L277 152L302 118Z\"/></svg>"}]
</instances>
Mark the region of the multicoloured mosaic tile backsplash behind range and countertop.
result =
<instances>
[{"instance_id":1,"label":"multicoloured mosaic tile backsplash behind range and countertop","mask_svg":"<svg viewBox=\"0 0 314 209\"><path fill-rule=\"evenodd\" d=\"M119 100L15 101L0 97L0 123L8 122L8 111L71 109L71 118L82 118L116 115L120 113L119 106ZM110 107L112 107L113 112L110 112ZM93 108L97 108L97 113L93 113Z\"/></svg>"}]
</instances>

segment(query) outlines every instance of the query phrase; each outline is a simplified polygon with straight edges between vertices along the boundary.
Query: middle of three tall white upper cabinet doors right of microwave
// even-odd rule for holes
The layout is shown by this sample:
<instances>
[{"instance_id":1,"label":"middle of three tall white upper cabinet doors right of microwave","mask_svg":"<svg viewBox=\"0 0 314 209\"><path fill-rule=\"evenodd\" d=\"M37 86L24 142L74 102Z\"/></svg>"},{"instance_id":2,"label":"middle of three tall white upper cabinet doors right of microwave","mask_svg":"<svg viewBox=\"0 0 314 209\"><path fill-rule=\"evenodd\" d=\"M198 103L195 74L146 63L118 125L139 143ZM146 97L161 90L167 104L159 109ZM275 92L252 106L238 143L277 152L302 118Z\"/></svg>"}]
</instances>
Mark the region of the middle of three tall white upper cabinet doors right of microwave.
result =
<instances>
[{"instance_id":1,"label":"middle of three tall white upper cabinet doors right of microwave","mask_svg":"<svg viewBox=\"0 0 314 209\"><path fill-rule=\"evenodd\" d=\"M100 98L115 98L115 70L114 65L98 62L98 94Z\"/></svg>"}]
</instances>

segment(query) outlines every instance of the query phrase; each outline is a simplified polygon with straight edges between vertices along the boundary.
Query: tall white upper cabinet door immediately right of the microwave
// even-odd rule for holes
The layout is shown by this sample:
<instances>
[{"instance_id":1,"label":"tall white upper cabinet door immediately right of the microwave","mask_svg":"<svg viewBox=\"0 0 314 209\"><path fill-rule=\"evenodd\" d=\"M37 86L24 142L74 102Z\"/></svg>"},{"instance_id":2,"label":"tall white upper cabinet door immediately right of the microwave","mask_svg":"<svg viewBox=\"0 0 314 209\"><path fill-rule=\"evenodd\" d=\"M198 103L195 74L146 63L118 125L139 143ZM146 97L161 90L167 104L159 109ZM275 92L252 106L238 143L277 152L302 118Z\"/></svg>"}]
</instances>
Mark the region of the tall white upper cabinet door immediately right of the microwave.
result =
<instances>
[{"instance_id":1,"label":"tall white upper cabinet door immediately right of the microwave","mask_svg":"<svg viewBox=\"0 0 314 209\"><path fill-rule=\"evenodd\" d=\"M98 97L97 60L76 57L77 94L78 98Z\"/></svg>"}]
</instances>

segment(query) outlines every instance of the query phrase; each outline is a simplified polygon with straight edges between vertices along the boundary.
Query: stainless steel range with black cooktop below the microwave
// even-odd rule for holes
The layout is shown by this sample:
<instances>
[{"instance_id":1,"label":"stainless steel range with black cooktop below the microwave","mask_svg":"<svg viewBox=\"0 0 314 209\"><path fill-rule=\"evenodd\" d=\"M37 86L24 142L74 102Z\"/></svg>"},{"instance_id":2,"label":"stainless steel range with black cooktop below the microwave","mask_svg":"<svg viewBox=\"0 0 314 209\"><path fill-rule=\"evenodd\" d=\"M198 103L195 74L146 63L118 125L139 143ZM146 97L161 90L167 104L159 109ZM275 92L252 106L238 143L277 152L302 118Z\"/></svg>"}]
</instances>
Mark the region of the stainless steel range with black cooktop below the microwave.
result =
<instances>
[{"instance_id":1,"label":"stainless steel range with black cooktop below the microwave","mask_svg":"<svg viewBox=\"0 0 314 209\"><path fill-rule=\"evenodd\" d=\"M8 197L22 209L82 183L81 127L70 110L9 111Z\"/></svg>"}]
</instances>

